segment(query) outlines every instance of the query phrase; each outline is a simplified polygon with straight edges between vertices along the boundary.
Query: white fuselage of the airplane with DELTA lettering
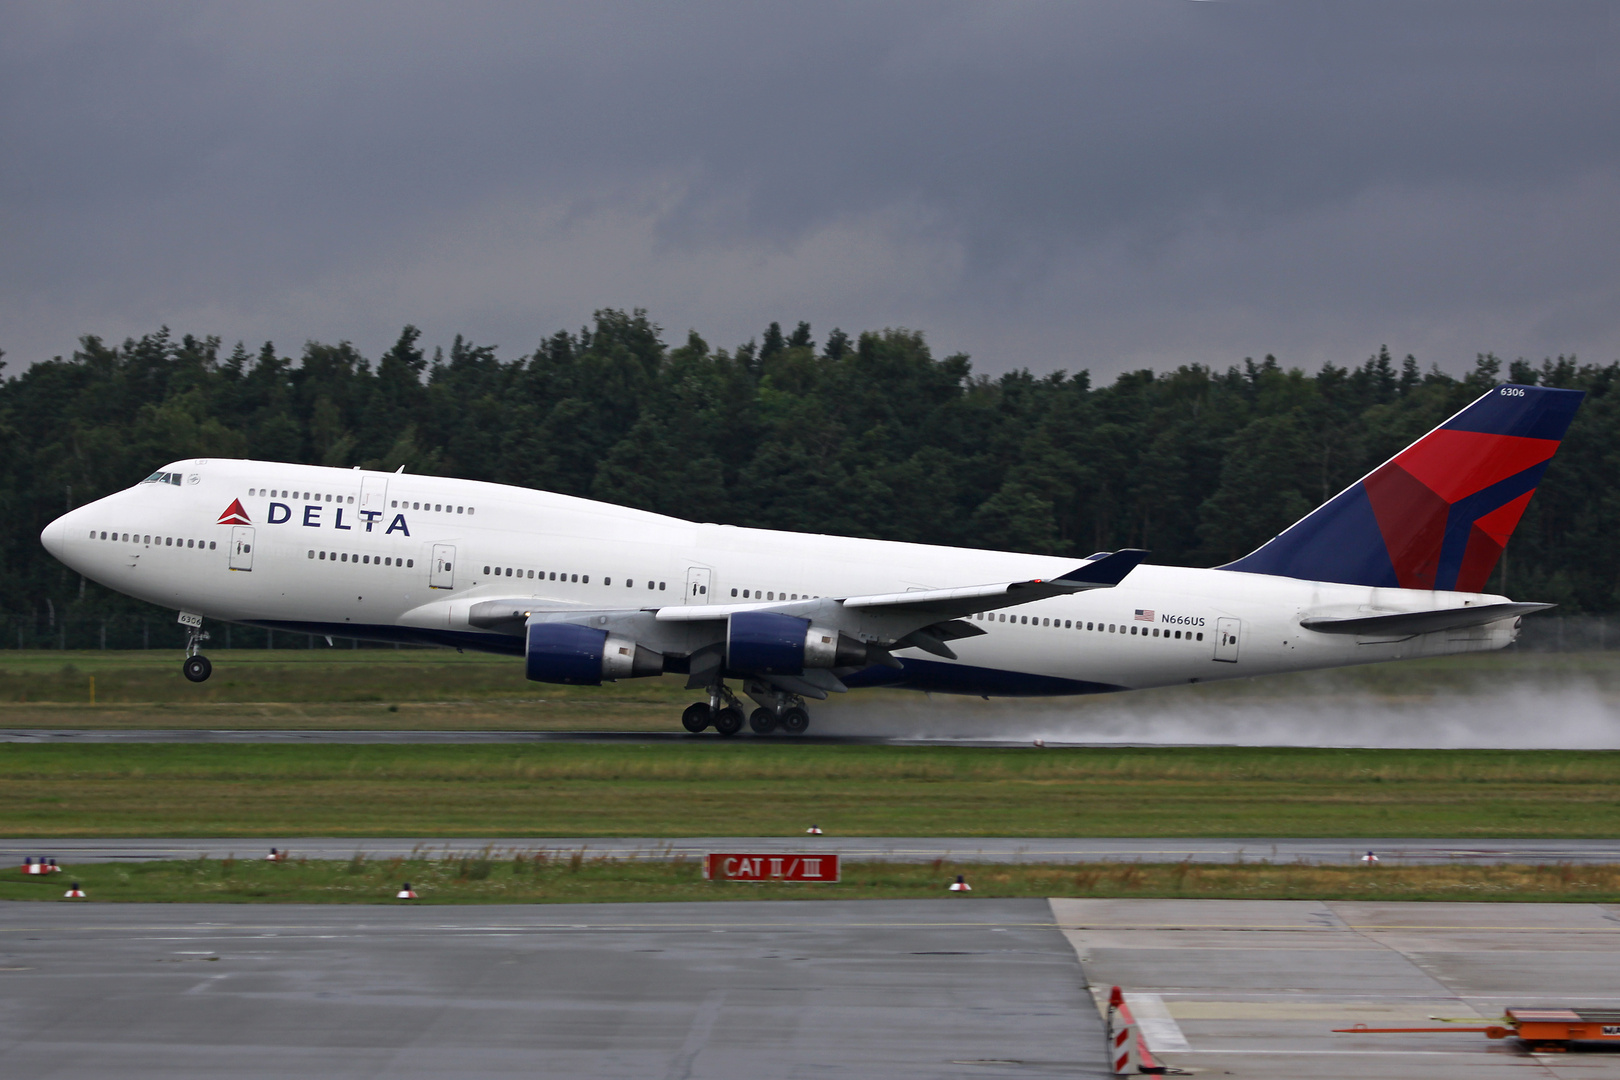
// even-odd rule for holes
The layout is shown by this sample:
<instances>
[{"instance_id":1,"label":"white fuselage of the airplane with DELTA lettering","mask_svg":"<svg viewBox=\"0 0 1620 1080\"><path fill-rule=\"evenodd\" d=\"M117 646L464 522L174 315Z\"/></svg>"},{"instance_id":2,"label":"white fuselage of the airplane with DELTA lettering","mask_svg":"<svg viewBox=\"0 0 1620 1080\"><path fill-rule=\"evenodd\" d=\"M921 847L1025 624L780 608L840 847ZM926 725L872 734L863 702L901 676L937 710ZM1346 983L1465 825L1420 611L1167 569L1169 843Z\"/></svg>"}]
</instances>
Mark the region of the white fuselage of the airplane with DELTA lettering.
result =
<instances>
[{"instance_id":1,"label":"white fuselage of the airplane with DELTA lettering","mask_svg":"<svg viewBox=\"0 0 1620 1080\"><path fill-rule=\"evenodd\" d=\"M177 461L165 473L180 483L136 484L63 515L47 547L110 589L206 619L502 653L520 653L522 640L471 627L473 604L839 597L1055 578L1077 563L697 525L433 476L246 460ZM246 525L220 523L235 500ZM896 656L940 675L909 685L964 693L1163 687L1497 649L1513 640L1511 620L1398 640L1315 633L1299 620L1502 599L1142 565L1115 588L974 617L985 633L953 641L956 661Z\"/></svg>"}]
</instances>

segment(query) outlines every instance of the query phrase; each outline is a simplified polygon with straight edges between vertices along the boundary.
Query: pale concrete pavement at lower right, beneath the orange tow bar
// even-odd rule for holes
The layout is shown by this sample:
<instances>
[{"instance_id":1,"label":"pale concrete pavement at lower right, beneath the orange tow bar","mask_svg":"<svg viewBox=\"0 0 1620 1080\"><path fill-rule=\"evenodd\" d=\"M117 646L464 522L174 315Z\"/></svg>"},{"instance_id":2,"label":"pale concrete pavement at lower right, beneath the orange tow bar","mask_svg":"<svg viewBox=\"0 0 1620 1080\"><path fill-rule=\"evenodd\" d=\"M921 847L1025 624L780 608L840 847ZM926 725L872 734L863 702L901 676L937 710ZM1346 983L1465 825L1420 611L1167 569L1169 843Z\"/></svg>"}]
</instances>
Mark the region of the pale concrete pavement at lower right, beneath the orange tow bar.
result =
<instances>
[{"instance_id":1,"label":"pale concrete pavement at lower right, beneath the orange tow bar","mask_svg":"<svg viewBox=\"0 0 1620 1080\"><path fill-rule=\"evenodd\" d=\"M1528 1052L1442 1027L1513 1006L1620 1006L1620 907L1051 900L1105 1004L1123 986L1158 1057L1254 1080L1614 1080L1620 1052Z\"/></svg>"}]
</instances>

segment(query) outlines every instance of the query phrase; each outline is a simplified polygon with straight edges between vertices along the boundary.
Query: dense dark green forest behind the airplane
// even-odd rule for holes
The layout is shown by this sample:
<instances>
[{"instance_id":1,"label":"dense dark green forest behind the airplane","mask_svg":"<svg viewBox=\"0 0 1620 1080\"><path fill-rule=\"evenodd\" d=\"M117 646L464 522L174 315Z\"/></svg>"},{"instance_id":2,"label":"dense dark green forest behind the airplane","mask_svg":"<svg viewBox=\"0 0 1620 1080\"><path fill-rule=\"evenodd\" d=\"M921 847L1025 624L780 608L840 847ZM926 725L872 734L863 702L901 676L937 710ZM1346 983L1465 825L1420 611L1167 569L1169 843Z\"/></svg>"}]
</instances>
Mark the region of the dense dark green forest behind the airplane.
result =
<instances>
[{"instance_id":1,"label":"dense dark green forest behind the airplane","mask_svg":"<svg viewBox=\"0 0 1620 1080\"><path fill-rule=\"evenodd\" d=\"M403 466L706 521L1213 565L1503 377L1589 397L1492 588L1615 610L1614 363L1482 355L1458 379L1380 350L1314 374L1267 356L1094 385L1085 371L975 376L910 330L816 342L771 324L729 351L695 332L671 345L646 313L612 309L512 359L462 338L429 355L415 327L374 361L347 342L293 359L167 329L86 337L0 382L0 631L55 643L133 625L143 606L68 573L39 529L173 458Z\"/></svg>"}]
</instances>

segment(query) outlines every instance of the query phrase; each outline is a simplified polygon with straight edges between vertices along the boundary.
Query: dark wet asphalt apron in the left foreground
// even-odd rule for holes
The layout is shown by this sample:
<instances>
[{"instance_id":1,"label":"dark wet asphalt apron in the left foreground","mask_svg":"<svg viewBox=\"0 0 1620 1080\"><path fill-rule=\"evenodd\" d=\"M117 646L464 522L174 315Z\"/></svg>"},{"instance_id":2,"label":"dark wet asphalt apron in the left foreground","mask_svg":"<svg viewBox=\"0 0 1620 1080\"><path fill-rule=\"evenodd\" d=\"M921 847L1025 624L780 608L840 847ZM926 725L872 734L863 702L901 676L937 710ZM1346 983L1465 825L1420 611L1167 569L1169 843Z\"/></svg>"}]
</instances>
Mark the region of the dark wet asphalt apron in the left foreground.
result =
<instances>
[{"instance_id":1,"label":"dark wet asphalt apron in the left foreground","mask_svg":"<svg viewBox=\"0 0 1620 1080\"><path fill-rule=\"evenodd\" d=\"M1106 1075L1043 900L0 905L11 1075Z\"/></svg>"}]
</instances>

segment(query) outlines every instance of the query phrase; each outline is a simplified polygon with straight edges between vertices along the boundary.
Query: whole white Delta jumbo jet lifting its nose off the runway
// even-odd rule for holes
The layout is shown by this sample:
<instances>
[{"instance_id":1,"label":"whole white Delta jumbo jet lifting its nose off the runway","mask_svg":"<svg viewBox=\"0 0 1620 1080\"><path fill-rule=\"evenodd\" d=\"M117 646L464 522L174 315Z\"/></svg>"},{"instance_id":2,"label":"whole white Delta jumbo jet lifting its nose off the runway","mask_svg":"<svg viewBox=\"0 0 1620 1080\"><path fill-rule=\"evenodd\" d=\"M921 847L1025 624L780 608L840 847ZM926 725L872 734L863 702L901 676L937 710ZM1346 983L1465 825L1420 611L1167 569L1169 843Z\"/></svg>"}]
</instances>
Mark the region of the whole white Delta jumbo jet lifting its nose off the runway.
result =
<instances>
[{"instance_id":1,"label":"whole white Delta jumbo jet lifting its nose off the runway","mask_svg":"<svg viewBox=\"0 0 1620 1080\"><path fill-rule=\"evenodd\" d=\"M40 534L107 588L204 620L522 656L530 678L679 672L688 732L804 732L857 687L1136 690L1498 649L1547 604L1486 581L1581 403L1500 385L1252 554L1053 555L697 525L437 476L175 461ZM987 538L991 539L991 538ZM1079 562L1079 565L1076 565Z\"/></svg>"}]
</instances>

